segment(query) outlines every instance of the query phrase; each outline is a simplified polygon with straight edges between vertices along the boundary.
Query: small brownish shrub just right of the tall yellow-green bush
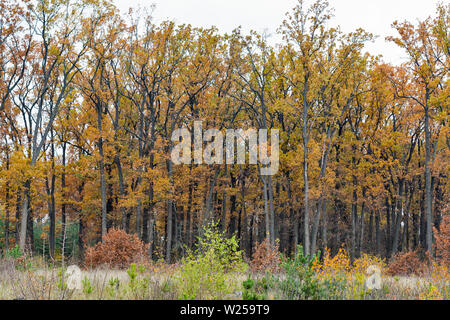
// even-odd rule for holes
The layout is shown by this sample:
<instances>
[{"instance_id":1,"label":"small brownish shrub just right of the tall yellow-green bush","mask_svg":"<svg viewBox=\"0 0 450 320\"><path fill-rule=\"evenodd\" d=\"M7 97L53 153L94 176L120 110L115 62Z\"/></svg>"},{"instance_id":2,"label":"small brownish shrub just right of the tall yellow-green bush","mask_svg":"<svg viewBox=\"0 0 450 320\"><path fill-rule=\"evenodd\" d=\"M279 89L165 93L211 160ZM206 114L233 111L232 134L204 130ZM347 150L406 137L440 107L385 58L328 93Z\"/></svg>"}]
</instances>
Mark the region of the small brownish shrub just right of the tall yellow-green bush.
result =
<instances>
[{"instance_id":1,"label":"small brownish shrub just right of the tall yellow-green bush","mask_svg":"<svg viewBox=\"0 0 450 320\"><path fill-rule=\"evenodd\" d=\"M278 245L271 245L266 238L261 243L256 243L250 268L253 272L278 272L280 271L281 257Z\"/></svg>"}]
</instances>

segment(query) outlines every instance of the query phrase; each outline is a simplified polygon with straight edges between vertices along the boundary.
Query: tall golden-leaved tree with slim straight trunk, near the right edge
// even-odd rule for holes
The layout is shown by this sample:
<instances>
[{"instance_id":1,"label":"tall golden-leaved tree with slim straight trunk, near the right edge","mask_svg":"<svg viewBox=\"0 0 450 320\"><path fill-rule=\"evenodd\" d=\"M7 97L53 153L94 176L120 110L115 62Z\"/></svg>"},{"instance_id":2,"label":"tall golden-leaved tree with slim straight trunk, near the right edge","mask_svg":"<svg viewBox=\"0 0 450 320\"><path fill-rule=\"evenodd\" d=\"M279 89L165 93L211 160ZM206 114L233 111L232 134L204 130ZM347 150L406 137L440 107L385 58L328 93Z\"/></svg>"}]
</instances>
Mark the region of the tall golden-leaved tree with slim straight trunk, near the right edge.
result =
<instances>
[{"instance_id":1,"label":"tall golden-leaved tree with slim straight trunk, near the right edge","mask_svg":"<svg viewBox=\"0 0 450 320\"><path fill-rule=\"evenodd\" d=\"M394 84L396 97L410 99L420 105L424 111L425 132L425 211L427 219L426 249L432 253L433 248L433 193L432 173L433 145L438 141L442 123L436 121L439 113L445 108L448 99L436 99L445 92L446 79L448 78L448 42L445 35L442 37L442 23L449 16L448 8L439 8L440 19L431 18L413 26L408 22L394 22L393 27L400 37L390 37L398 46L408 54L409 61L406 64L410 77L403 83ZM447 18L445 18L447 16ZM435 28L436 27L436 28ZM437 31L437 32L436 32ZM441 38L442 37L442 38ZM447 39L448 40L448 39ZM412 81L409 81L409 78ZM447 89L448 90L448 89ZM448 97L448 95L447 95ZM447 106L448 107L448 106ZM445 112L445 111L444 111ZM445 121L445 120L444 120ZM434 131L434 135L433 135ZM433 137L434 136L434 137Z\"/></svg>"}]
</instances>

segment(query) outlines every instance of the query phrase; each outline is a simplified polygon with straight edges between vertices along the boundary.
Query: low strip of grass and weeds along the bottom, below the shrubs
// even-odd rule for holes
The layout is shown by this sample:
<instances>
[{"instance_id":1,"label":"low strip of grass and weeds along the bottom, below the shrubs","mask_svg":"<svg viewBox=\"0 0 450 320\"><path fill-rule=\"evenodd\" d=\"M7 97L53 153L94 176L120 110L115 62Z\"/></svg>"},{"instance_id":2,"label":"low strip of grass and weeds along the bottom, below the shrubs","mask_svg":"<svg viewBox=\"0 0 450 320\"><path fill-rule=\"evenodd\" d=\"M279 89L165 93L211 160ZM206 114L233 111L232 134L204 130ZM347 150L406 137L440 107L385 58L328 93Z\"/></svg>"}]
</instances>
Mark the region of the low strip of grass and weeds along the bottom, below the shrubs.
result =
<instances>
[{"instance_id":1,"label":"low strip of grass and weeds along the bottom, below the shrubs","mask_svg":"<svg viewBox=\"0 0 450 320\"><path fill-rule=\"evenodd\" d=\"M80 286L73 288L62 266L52 267L39 258L20 264L9 259L0 262L0 299L449 299L450 281L442 268L420 278L383 272L381 288L373 290L364 284L368 276L357 268L296 269L261 273L245 266L242 272L213 274L205 269L194 275L183 264L132 264L127 270L82 270Z\"/></svg>"}]
</instances>

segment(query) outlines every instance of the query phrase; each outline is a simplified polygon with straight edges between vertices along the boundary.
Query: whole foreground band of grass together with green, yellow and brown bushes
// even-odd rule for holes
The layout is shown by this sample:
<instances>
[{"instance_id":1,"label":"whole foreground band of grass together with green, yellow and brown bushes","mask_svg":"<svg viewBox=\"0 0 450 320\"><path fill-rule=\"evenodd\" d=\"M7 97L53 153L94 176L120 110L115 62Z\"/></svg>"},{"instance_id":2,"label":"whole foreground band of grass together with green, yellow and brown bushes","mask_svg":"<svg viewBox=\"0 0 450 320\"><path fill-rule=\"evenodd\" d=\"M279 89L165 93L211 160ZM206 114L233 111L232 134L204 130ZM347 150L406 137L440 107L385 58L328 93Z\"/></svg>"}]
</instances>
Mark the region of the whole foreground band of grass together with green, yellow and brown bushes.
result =
<instances>
[{"instance_id":1,"label":"whole foreground band of grass together with green, yellow and brown bushes","mask_svg":"<svg viewBox=\"0 0 450 320\"><path fill-rule=\"evenodd\" d=\"M125 245L106 240L92 249L79 288L68 285L64 261L49 264L12 250L0 261L0 299L450 298L448 264L415 261L418 257L412 253L399 255L389 264L367 254L351 261L343 248L335 256L326 250L323 256L309 257L298 247L287 257L266 239L258 244L252 259L245 261L237 239L224 237L212 224L205 228L195 250L180 263L167 265L143 259L139 246L133 245L135 237L123 239ZM109 250L109 263L102 260L102 245ZM366 284L370 266L381 270L380 288Z\"/></svg>"}]
</instances>

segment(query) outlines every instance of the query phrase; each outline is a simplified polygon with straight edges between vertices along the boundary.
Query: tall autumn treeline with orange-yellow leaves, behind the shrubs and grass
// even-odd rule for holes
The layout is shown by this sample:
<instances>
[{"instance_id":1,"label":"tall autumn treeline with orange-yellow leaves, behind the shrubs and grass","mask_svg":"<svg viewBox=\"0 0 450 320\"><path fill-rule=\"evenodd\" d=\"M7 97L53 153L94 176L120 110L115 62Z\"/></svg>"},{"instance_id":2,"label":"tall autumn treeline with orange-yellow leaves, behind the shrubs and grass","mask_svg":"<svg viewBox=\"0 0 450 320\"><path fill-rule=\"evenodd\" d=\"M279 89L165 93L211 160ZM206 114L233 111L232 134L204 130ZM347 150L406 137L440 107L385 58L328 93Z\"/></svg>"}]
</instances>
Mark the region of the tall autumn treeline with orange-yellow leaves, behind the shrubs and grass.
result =
<instances>
[{"instance_id":1,"label":"tall autumn treeline with orange-yellow leaves, behind the shrubs and grass","mask_svg":"<svg viewBox=\"0 0 450 320\"><path fill-rule=\"evenodd\" d=\"M286 253L432 252L449 212L450 6L393 24L400 66L331 17L299 1L271 45L106 0L2 0L2 248L46 240L55 256L77 226L82 256L117 227L174 261L215 220L247 255L265 237ZM278 173L175 166L172 132L197 120L279 129Z\"/></svg>"}]
</instances>

